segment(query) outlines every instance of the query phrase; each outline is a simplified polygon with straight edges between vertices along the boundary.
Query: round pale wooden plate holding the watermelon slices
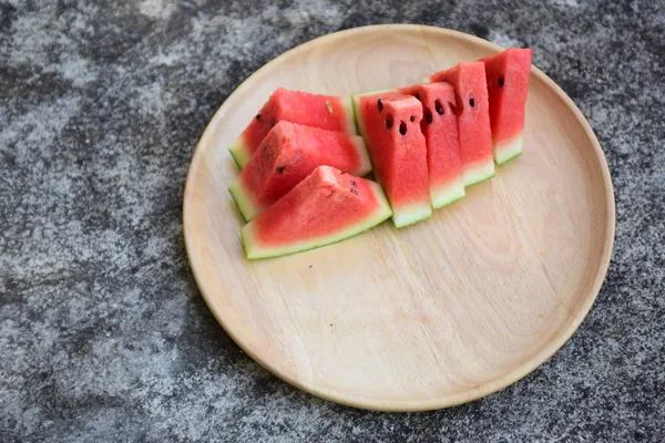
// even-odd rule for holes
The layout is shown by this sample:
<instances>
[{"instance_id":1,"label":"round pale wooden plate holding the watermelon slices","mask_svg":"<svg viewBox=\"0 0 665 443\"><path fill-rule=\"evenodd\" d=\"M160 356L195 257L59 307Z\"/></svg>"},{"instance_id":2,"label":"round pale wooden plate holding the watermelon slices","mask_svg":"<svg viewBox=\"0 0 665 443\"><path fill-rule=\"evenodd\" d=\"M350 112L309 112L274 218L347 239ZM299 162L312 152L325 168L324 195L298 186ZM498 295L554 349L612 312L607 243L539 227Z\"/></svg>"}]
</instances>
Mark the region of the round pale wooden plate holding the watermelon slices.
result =
<instances>
[{"instance_id":1,"label":"round pale wooden plate holding the watermelon slices","mask_svg":"<svg viewBox=\"0 0 665 443\"><path fill-rule=\"evenodd\" d=\"M227 147L278 86L314 93L418 83L501 48L422 25L337 32L273 60L226 100L194 154L184 233L196 282L226 332L315 395L418 411L502 389L580 326L614 240L607 164L589 123L533 68L524 154L462 200L403 229L248 261Z\"/></svg>"}]
</instances>

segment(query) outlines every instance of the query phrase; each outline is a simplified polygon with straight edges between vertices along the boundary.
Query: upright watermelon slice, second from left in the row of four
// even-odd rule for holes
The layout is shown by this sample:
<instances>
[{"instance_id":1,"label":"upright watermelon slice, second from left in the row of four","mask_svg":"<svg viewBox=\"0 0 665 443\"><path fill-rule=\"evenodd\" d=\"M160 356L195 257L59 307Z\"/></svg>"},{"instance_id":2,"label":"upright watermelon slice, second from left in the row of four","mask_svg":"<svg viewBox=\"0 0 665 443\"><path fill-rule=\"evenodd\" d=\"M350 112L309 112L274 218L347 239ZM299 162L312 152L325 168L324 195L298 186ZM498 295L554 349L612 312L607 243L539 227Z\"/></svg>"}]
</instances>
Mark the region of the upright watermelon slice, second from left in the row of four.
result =
<instances>
[{"instance_id":1,"label":"upright watermelon slice, second from left in the row of four","mask_svg":"<svg viewBox=\"0 0 665 443\"><path fill-rule=\"evenodd\" d=\"M430 199L440 208L464 196L462 161L454 114L454 89L449 83L418 84L400 90L422 103L420 127L427 144Z\"/></svg>"}]
</instances>

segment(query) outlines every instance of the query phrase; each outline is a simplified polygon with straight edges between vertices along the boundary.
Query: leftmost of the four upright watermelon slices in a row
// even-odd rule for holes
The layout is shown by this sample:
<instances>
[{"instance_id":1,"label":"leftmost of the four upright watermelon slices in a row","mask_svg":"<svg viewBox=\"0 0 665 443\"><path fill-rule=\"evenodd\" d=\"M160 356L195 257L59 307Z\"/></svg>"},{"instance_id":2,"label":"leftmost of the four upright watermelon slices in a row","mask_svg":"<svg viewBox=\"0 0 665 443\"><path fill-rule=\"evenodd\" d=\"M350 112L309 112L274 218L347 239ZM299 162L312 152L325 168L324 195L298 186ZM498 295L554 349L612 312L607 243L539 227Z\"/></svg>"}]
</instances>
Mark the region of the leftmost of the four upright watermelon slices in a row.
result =
<instances>
[{"instance_id":1,"label":"leftmost of the four upright watermelon slices in a row","mask_svg":"<svg viewBox=\"0 0 665 443\"><path fill-rule=\"evenodd\" d=\"M429 198L427 147L420 131L422 105L397 91L355 94L360 133L377 181L392 206L392 222L403 227L432 214Z\"/></svg>"}]
</instances>

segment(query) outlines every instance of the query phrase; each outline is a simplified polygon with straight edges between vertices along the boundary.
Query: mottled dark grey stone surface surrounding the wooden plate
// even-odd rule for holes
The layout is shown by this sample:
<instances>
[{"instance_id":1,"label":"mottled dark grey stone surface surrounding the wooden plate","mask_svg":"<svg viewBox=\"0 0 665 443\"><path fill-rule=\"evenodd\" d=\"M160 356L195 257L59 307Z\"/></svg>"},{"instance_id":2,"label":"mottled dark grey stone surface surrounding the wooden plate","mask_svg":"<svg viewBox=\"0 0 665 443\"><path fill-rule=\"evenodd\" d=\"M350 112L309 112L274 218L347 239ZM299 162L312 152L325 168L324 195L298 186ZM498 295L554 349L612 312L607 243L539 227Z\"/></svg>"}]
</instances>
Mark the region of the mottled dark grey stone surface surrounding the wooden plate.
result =
<instances>
[{"instance_id":1,"label":"mottled dark grey stone surface surrounding the wooden plate","mask_svg":"<svg viewBox=\"0 0 665 443\"><path fill-rule=\"evenodd\" d=\"M616 190L607 280L573 339L429 413L269 375L213 319L182 235L194 146L233 89L309 39L386 22L533 47ZM664 41L662 0L0 0L0 441L663 441Z\"/></svg>"}]
</instances>

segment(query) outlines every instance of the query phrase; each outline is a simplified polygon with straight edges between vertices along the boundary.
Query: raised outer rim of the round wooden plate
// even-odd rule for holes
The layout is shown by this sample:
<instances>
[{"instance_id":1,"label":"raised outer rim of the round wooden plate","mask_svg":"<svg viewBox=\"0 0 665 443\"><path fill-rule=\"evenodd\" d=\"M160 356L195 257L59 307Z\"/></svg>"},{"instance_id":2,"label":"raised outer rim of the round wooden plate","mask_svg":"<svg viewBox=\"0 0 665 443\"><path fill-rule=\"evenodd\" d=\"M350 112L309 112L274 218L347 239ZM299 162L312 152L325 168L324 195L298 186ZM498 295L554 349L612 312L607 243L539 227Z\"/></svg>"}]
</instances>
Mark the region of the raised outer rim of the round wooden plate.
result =
<instances>
[{"instance_id":1,"label":"raised outer rim of the round wooden plate","mask_svg":"<svg viewBox=\"0 0 665 443\"><path fill-rule=\"evenodd\" d=\"M563 101L563 103L566 105L566 107L573 113L573 115L575 116L577 122L581 123L585 135L589 137L589 140L593 146L593 151L596 156L596 159L597 159L598 164L601 165L602 178L603 178L603 184L605 187L604 197L605 197L605 202L607 203L607 224L606 224L606 231L604 234L605 241L603 243L601 261L598 264L600 266L597 267L597 272L595 275L594 282L593 282L593 286L591 289L592 293L590 297L587 297L585 299L584 305L580 308L579 312L581 315L574 316L573 320L571 322L569 322L567 326L565 327L565 330L563 332L560 332L559 334L556 334L556 337L548 346L541 348L539 351L536 351L534 353L534 356L532 356L523 364L504 373L502 377L491 380L482 385L479 385L473 390L460 392L460 393L452 394L452 395L446 395L442 398L428 399L428 400L413 400L413 401L411 401L411 400L407 400L407 401L405 401L405 400L368 401L366 398L361 398L361 396L357 396L357 395L356 396L354 396L354 395L345 396L345 395L339 394L337 391L331 391L331 390L327 390L327 389L315 389L314 387L306 385L306 384L301 383L298 379L289 377L288 374L280 373L279 371L273 369L267 361L262 359L258 354L254 353L249 347L245 346L245 343L241 340L239 337L237 337L229 328L227 328L225 326L223 313L217 311L214 308L212 297L209 296L209 293L212 291L208 290L207 285L205 282L205 278L202 277L204 272L200 269L201 265L198 264L198 259L197 259L196 255L194 254L194 249L193 249L194 246L191 244L193 241L191 239L191 237L192 237L191 225L193 222L190 220L191 217L188 216L188 214L192 214L192 213L187 210L187 202L190 199L188 196L192 194L191 188L193 186L192 183L194 182L193 177L196 175L200 165L203 163L202 162L202 156L203 156L203 152L204 152L203 146L207 143L207 140L212 137L212 133L213 133L214 128L217 127L218 124L221 123L222 114L226 110L228 99L231 99L234 94L238 93L239 91L248 87L247 86L248 82L255 75L260 74L263 71L269 70L273 64L277 63L283 58L293 56L293 55L297 54L298 52L307 51L310 47L314 47L317 44L329 44L330 42L332 42L336 39L347 38L348 35L354 34L354 33L364 33L364 32L371 33L371 32L385 31L385 30L395 30L396 32L418 31L418 32L422 33L423 38L426 35L426 32L441 33L441 34L446 34L448 37L460 39L462 41L470 42L472 44L483 45L484 48L491 50L492 52L499 52L504 49L504 48L500 47L499 44L492 43L485 39L482 39L482 38L466 33L466 32L448 29L448 28L440 28L440 27L427 25L427 24L416 24L416 23L389 23L389 24L370 24L370 25L350 28L350 29L331 32L331 33L324 34L324 35L317 37L315 39L308 40L304 43L300 43L283 53L280 53L279 55L275 56L274 59L269 60L267 63L262 65L258 70L256 70L252 74L249 74L245 80L243 80L243 82L241 82L231 92L231 94L228 94L226 100L224 100L222 105L213 114L213 116L208 121L203 134L201 135L201 137L196 144L196 147L194 150L194 154L192 155L192 159L191 159L190 167L187 171L187 176L185 179L185 187L184 187L184 193L183 193L183 209L182 209L183 236L184 236L184 240L185 240L185 251L187 255L187 261L190 264L190 269L192 270L192 275L194 276L196 286L197 286L205 303L207 305L208 309L215 317L215 320L219 323L219 326L224 329L224 331L231 337L231 339L245 353L247 353L247 356L249 356L256 363L258 363L266 371L268 371L273 375L279 378L280 380L287 382L288 384L290 384L299 390L303 390L311 395L315 395L317 398L328 400L328 401L331 401L331 402L335 402L338 404L347 405L347 406L354 406L354 408L372 410L372 411L386 411L386 412L431 411L431 410L456 406L459 404L468 403L468 402L484 398L497 391L508 388L511 384L516 383L518 381L520 381L523 378L525 378L526 375L529 375L531 372L539 369L544 362L550 360L552 358L552 356L554 353L556 353L565 343L567 343L567 341L571 339L571 337L580 328L580 326L582 324L582 322L589 315L589 311L591 310L592 306L595 303L595 300L601 291L601 288L604 284L606 275L607 275L610 261L612 258L612 253L614 249L614 240L615 240L615 233L616 233L616 203L615 203L615 196L614 196L614 186L612 183L612 175L610 174L610 167L607 164L607 159L605 157L605 153L603 152L601 144L600 144L595 133L593 132L593 128L591 127L591 124L589 123L589 121L586 120L584 114L582 114L582 111L580 111L580 109L573 102L573 100L561 89L561 86L559 86L559 84L556 84L556 82L554 82L552 79L550 79L543 71L538 69L535 65L532 64L531 73L533 75L535 75L536 78L539 78L540 81L544 82L548 85L548 87L551 91L553 91Z\"/></svg>"}]
</instances>

